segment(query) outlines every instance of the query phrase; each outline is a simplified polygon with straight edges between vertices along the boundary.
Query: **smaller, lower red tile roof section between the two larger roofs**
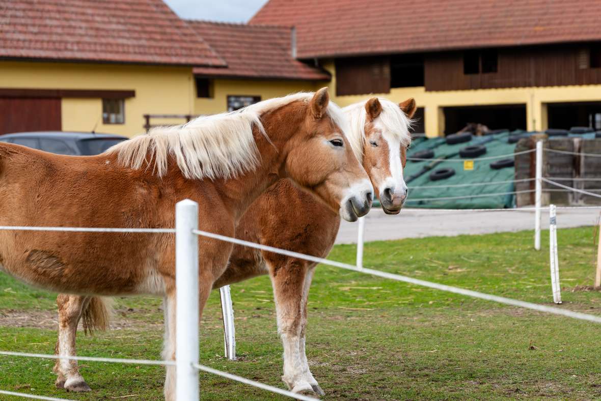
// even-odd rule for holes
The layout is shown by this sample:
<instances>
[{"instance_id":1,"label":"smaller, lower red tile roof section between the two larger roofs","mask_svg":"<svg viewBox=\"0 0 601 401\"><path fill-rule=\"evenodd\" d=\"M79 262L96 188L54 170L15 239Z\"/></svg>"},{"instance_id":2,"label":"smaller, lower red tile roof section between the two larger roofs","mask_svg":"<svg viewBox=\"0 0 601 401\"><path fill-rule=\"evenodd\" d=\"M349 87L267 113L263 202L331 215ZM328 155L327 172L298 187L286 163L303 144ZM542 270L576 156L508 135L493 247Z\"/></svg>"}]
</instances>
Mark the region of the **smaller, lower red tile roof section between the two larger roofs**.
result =
<instances>
[{"instance_id":1,"label":"smaller, lower red tile roof section between the two larger roofs","mask_svg":"<svg viewBox=\"0 0 601 401\"><path fill-rule=\"evenodd\" d=\"M206 21L188 22L227 62L227 68L196 67L202 76L329 80L323 70L291 56L291 29Z\"/></svg>"}]
</instances>

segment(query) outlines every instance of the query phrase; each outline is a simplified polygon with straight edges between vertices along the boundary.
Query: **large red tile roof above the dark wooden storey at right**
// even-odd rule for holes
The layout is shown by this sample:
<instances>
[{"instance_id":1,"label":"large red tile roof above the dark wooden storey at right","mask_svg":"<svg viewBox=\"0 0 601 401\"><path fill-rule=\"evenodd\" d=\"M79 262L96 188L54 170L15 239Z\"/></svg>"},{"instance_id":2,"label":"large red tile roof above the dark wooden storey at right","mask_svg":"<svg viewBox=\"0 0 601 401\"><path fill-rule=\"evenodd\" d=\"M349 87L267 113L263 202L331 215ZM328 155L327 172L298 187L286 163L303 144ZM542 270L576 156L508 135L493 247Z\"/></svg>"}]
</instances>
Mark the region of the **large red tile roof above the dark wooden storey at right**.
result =
<instances>
[{"instance_id":1,"label":"large red tile roof above the dark wooden storey at right","mask_svg":"<svg viewBox=\"0 0 601 401\"><path fill-rule=\"evenodd\" d=\"M270 0L251 24L296 26L299 58L601 40L599 0Z\"/></svg>"}]
</instances>

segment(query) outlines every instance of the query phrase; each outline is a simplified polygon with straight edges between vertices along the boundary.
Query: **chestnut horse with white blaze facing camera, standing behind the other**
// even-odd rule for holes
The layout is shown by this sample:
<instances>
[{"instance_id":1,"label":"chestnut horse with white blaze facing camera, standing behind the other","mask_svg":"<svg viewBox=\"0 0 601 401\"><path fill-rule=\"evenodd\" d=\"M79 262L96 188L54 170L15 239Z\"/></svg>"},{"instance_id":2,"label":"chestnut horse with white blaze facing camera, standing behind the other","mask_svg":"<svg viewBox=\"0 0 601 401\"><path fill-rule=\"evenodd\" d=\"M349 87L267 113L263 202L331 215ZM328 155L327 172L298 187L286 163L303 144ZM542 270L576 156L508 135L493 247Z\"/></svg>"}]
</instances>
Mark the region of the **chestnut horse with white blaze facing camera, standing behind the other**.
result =
<instances>
[{"instance_id":1,"label":"chestnut horse with white blaze facing camera, standing behind the other","mask_svg":"<svg viewBox=\"0 0 601 401\"><path fill-rule=\"evenodd\" d=\"M343 109L352 123L349 142L356 156L379 191L380 203L388 214L399 213L407 187L403 180L406 148L410 143L410 118L415 113L415 101L410 98L400 105L386 99L371 98ZM284 209L281 205L287 205ZM273 247L325 257L338 232L340 218L311 194L299 190L289 180L276 182L263 193L240 220L236 237ZM278 312L278 330L284 343L284 376L288 387L296 392L323 394L309 370L305 355L307 297L316 264L287 258L269 252L257 252L234 246L227 270L215 282L214 288L269 273ZM59 342L72 341L75 352L76 329L84 316L84 328L106 328L107 306L100 298L92 298L82 312L82 302L75 295L61 294L59 310ZM68 334L63 334L69 330ZM58 352L58 348L57 348ZM61 372L59 361L55 371ZM90 390L76 365L64 375L78 378L79 388ZM64 379L57 384L62 385ZM82 387L85 386L85 387Z\"/></svg>"}]
</instances>

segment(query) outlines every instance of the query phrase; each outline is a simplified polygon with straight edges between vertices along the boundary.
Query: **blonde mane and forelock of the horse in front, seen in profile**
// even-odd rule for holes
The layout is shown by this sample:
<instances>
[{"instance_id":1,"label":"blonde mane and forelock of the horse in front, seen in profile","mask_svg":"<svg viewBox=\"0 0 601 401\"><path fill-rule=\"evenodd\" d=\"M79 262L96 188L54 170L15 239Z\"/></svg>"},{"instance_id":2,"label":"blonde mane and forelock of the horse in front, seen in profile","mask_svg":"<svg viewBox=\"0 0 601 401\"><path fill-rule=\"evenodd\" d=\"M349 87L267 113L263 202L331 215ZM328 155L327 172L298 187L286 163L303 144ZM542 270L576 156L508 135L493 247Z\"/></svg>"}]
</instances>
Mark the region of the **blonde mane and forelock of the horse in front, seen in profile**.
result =
<instances>
[{"instance_id":1,"label":"blonde mane and forelock of the horse in front, seen in profile","mask_svg":"<svg viewBox=\"0 0 601 401\"><path fill-rule=\"evenodd\" d=\"M235 112L200 116L183 125L155 127L148 134L136 136L112 146L106 152L116 153L124 166L149 167L163 176L169 157L186 178L233 178L254 170L260 160L252 135L254 127L267 136L261 115L294 101L308 101L311 92L299 92L284 97L260 101ZM337 124L344 124L344 115L330 102L328 114ZM269 139L269 138L268 138Z\"/></svg>"}]
</instances>

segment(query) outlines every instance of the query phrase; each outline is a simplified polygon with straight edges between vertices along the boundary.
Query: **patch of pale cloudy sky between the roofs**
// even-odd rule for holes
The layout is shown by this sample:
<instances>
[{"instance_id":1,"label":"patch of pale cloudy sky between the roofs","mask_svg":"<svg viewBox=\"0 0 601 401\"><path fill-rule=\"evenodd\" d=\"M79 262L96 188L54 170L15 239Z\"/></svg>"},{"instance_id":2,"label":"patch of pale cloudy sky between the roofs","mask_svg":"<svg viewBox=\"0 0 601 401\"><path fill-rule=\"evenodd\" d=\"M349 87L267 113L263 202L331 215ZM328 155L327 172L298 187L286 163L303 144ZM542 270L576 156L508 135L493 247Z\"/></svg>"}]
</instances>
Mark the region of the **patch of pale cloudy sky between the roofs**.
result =
<instances>
[{"instance_id":1,"label":"patch of pale cloudy sky between the roofs","mask_svg":"<svg viewBox=\"0 0 601 401\"><path fill-rule=\"evenodd\" d=\"M247 22L267 0L164 0L178 16L221 22Z\"/></svg>"}]
</instances>

